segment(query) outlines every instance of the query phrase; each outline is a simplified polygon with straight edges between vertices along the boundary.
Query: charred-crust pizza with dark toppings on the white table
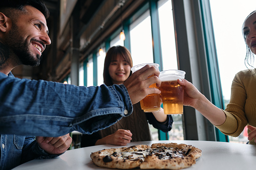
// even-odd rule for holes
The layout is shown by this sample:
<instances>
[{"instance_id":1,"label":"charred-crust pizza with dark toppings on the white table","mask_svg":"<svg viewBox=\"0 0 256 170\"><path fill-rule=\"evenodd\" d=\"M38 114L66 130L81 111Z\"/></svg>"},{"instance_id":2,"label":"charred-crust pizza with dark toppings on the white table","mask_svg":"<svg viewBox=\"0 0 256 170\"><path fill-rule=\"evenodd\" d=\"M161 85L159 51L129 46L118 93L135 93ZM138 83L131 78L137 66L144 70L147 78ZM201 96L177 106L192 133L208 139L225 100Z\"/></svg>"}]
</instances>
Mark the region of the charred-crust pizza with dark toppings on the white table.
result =
<instances>
[{"instance_id":1,"label":"charred-crust pizza with dark toppings on the white table","mask_svg":"<svg viewBox=\"0 0 256 170\"><path fill-rule=\"evenodd\" d=\"M195 164L201 155L192 145L153 143L103 149L93 152L91 158L96 165L108 168L182 169Z\"/></svg>"}]
</instances>

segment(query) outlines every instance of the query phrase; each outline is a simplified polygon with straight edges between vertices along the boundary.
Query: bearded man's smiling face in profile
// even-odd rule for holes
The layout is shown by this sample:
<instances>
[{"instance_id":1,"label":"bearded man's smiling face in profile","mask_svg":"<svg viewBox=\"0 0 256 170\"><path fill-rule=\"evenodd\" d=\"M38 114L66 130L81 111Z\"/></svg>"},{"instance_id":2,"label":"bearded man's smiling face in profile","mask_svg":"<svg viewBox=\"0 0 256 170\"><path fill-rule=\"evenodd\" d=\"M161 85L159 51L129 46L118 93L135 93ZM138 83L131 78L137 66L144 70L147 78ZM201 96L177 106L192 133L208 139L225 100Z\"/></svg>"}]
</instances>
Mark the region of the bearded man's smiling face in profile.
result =
<instances>
[{"instance_id":1,"label":"bearded man's smiling face in profile","mask_svg":"<svg viewBox=\"0 0 256 170\"><path fill-rule=\"evenodd\" d=\"M20 59L21 64L38 66L45 46L51 44L44 15L34 7L26 6L26 13L13 21L7 33L6 44Z\"/></svg>"}]
</instances>

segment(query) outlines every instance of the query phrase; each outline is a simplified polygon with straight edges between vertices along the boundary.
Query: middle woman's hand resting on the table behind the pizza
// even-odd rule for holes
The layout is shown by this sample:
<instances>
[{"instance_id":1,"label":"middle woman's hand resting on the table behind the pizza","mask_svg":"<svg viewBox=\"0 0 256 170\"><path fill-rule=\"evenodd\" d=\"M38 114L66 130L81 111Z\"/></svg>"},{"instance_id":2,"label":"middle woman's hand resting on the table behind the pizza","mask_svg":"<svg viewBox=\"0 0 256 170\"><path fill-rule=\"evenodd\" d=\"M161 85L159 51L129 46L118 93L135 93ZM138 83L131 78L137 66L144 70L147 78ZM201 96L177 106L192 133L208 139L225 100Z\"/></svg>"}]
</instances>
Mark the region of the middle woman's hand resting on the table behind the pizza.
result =
<instances>
[{"instance_id":1,"label":"middle woman's hand resting on the table behind the pizza","mask_svg":"<svg viewBox=\"0 0 256 170\"><path fill-rule=\"evenodd\" d=\"M132 133L130 130L118 129L115 133L110 134L102 139L96 141L95 145L99 144L113 144L124 146L130 143L132 138Z\"/></svg>"}]
</instances>

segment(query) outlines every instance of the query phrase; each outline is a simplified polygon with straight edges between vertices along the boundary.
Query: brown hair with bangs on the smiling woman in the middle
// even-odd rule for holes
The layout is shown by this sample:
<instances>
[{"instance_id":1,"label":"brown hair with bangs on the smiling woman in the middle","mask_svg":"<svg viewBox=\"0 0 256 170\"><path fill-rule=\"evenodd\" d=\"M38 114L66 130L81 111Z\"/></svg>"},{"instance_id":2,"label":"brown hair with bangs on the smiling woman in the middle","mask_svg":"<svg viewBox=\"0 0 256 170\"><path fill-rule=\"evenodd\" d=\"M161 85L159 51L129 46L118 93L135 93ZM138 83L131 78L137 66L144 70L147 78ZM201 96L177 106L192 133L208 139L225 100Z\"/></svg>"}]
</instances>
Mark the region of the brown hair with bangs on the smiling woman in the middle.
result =
<instances>
[{"instance_id":1,"label":"brown hair with bangs on the smiling woman in the middle","mask_svg":"<svg viewBox=\"0 0 256 170\"><path fill-rule=\"evenodd\" d=\"M104 70L103 70L104 84L106 84L107 86L113 85L112 79L109 74L109 65L110 65L111 61L116 60L118 55L123 56L124 59L126 60L126 62L132 67L131 53L129 52L129 50L127 48L125 48L123 46L111 47L106 54L106 58L105 58L105 62L104 62ZM132 72L130 71L130 75L131 74L132 74Z\"/></svg>"}]
</instances>

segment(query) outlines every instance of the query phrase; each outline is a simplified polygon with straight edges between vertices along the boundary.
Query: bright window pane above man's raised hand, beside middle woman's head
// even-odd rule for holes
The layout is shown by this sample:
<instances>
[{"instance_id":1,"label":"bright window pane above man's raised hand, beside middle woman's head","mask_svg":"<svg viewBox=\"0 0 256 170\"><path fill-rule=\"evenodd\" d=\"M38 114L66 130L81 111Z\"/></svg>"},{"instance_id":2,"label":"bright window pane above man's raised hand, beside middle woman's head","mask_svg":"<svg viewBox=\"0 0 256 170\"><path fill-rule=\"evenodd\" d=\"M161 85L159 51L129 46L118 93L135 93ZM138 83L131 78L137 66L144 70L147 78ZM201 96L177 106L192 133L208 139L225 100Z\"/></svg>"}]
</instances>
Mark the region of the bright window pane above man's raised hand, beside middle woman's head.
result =
<instances>
[{"instance_id":1,"label":"bright window pane above man's raised hand, beside middle woman's head","mask_svg":"<svg viewBox=\"0 0 256 170\"><path fill-rule=\"evenodd\" d=\"M149 11L130 25L133 65L153 63L151 21Z\"/></svg>"}]
</instances>

